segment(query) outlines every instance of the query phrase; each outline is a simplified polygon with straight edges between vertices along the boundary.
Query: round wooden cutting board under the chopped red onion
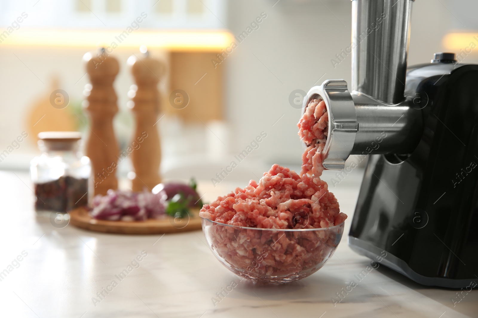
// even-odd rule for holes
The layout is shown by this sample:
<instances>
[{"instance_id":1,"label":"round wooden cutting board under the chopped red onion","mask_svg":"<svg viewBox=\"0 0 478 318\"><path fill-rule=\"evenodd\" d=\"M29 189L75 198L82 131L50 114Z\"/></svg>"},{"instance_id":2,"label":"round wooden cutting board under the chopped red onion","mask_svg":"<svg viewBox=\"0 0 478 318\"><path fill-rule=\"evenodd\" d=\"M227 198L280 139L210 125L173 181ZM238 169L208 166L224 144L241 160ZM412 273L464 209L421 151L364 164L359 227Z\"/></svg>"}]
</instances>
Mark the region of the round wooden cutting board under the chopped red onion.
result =
<instances>
[{"instance_id":1,"label":"round wooden cutting board under the chopped red onion","mask_svg":"<svg viewBox=\"0 0 478 318\"><path fill-rule=\"evenodd\" d=\"M178 233L201 229L199 209L192 209L192 216L164 219L148 219L146 221L106 221L91 218L87 209L81 207L69 212L70 223L90 231L120 234L161 234Z\"/></svg>"}]
</instances>

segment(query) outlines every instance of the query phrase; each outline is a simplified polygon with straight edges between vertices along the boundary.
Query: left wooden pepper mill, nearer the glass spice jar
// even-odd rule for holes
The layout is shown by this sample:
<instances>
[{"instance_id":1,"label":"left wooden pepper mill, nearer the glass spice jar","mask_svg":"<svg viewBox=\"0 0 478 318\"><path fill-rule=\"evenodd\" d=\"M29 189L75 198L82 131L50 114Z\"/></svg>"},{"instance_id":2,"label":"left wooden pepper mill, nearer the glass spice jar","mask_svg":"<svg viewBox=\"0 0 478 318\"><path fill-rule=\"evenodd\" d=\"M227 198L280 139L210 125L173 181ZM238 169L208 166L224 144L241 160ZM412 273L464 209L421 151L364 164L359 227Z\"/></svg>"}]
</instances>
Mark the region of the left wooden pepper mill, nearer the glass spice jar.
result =
<instances>
[{"instance_id":1,"label":"left wooden pepper mill, nearer the glass spice jar","mask_svg":"<svg viewBox=\"0 0 478 318\"><path fill-rule=\"evenodd\" d=\"M86 53L83 60L86 62L91 82L85 85L84 91L87 97L85 109L89 113L91 123L86 154L92 164L95 195L106 195L108 189L118 188L116 168L119 148L113 131L113 117L118 112L118 98L113 82L120 65L105 49Z\"/></svg>"}]
</instances>

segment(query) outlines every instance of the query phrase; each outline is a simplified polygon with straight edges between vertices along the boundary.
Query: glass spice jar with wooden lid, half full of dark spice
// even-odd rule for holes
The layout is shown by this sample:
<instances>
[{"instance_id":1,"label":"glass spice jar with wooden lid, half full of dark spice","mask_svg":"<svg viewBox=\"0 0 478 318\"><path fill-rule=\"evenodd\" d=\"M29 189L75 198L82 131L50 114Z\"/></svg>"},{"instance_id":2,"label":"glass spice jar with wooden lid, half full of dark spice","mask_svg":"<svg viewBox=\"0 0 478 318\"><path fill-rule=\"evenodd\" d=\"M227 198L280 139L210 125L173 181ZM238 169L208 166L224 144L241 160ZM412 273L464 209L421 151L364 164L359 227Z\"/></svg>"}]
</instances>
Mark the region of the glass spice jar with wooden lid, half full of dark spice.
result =
<instances>
[{"instance_id":1,"label":"glass spice jar with wooden lid, half full of dark spice","mask_svg":"<svg viewBox=\"0 0 478 318\"><path fill-rule=\"evenodd\" d=\"M91 164L78 150L81 133L42 132L38 139L43 154L30 163L35 211L65 213L88 205Z\"/></svg>"}]
</instances>

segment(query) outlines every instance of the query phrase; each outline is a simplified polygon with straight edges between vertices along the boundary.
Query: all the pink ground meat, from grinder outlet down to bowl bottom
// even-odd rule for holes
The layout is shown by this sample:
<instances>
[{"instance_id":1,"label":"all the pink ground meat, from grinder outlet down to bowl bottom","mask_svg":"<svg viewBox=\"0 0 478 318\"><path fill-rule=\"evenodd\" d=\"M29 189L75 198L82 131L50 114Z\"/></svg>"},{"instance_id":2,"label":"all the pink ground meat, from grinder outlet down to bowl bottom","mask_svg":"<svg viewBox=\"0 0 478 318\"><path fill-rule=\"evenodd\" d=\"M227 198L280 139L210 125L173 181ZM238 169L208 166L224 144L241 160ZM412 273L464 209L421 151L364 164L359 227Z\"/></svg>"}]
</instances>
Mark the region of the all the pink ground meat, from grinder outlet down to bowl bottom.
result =
<instances>
[{"instance_id":1,"label":"all the pink ground meat, from grinder outlet down to bowl bottom","mask_svg":"<svg viewBox=\"0 0 478 318\"><path fill-rule=\"evenodd\" d=\"M322 267L339 242L337 236L341 237L343 226L329 227L341 225L347 215L340 212L337 199L320 179L328 131L325 102L310 101L297 125L308 146L300 175L274 164L259 183L251 180L244 189L204 205L199 213L232 225L208 223L204 230L212 249L240 276L252 280L306 277ZM323 230L299 231L313 228Z\"/></svg>"}]
</instances>

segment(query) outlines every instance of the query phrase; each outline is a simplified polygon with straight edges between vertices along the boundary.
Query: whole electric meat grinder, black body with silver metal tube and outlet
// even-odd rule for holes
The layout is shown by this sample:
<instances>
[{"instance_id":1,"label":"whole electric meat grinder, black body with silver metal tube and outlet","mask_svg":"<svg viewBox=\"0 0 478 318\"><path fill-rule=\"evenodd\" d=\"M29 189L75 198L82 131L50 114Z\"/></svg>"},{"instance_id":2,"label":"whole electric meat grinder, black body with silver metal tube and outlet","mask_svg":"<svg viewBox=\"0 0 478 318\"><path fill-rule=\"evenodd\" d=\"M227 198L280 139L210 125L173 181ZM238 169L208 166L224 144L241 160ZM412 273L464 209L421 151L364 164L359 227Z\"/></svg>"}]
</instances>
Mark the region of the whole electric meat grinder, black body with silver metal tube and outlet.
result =
<instances>
[{"instance_id":1,"label":"whole electric meat grinder, black body with silver metal tube and outlet","mask_svg":"<svg viewBox=\"0 0 478 318\"><path fill-rule=\"evenodd\" d=\"M478 65L435 53L407 69L413 0L352 0L352 91L327 80L323 165L369 155L349 246L414 281L478 280ZM475 283L476 286L476 283Z\"/></svg>"}]
</instances>

